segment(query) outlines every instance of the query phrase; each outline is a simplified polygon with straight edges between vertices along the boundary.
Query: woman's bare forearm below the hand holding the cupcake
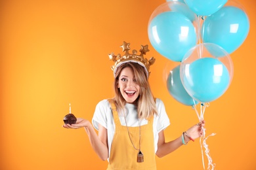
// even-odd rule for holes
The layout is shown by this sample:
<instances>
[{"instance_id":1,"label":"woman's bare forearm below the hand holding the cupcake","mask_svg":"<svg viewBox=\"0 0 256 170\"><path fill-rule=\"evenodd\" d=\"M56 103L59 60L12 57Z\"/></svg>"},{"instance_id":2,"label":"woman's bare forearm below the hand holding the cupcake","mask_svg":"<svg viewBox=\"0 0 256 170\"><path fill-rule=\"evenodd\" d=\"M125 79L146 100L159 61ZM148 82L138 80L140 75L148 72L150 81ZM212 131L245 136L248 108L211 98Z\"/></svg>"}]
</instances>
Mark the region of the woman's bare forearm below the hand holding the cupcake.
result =
<instances>
[{"instance_id":1,"label":"woman's bare forearm below the hand holding the cupcake","mask_svg":"<svg viewBox=\"0 0 256 170\"><path fill-rule=\"evenodd\" d=\"M93 150L95 150L96 154L100 157L101 160L107 160L108 159L107 144L104 144L102 143L102 141L100 141L98 135L95 132L95 129L93 129L93 126L91 124L85 127L85 131L89 137L91 146L93 147Z\"/></svg>"}]
</instances>

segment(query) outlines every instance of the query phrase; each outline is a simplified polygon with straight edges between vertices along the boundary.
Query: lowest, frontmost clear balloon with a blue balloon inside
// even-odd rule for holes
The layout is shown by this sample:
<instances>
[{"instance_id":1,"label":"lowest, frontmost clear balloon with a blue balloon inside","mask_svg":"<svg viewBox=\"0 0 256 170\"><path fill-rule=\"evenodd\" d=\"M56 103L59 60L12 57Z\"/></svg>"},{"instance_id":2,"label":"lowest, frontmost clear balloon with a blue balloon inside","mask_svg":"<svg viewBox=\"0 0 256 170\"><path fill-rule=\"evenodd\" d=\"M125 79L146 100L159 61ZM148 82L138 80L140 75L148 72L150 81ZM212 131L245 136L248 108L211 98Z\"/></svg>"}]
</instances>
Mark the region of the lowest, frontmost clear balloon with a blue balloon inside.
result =
<instances>
[{"instance_id":1,"label":"lowest, frontmost clear balloon with a blue balloon inside","mask_svg":"<svg viewBox=\"0 0 256 170\"><path fill-rule=\"evenodd\" d=\"M181 62L181 82L196 101L208 103L218 99L230 86L233 63L229 54L212 43L191 48Z\"/></svg>"}]
</instances>

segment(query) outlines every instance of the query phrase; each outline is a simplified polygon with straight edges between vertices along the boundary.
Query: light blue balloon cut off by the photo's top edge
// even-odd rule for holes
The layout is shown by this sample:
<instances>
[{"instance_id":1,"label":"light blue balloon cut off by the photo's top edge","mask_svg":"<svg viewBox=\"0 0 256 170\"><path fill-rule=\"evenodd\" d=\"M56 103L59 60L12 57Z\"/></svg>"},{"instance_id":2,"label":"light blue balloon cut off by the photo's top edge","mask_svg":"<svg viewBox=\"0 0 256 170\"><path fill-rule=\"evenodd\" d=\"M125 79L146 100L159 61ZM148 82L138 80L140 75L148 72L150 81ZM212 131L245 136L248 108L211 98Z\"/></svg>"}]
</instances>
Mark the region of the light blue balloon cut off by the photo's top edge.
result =
<instances>
[{"instance_id":1,"label":"light blue balloon cut off by the photo's top edge","mask_svg":"<svg viewBox=\"0 0 256 170\"><path fill-rule=\"evenodd\" d=\"M198 16L209 16L217 12L228 0L184 0Z\"/></svg>"}]
</instances>

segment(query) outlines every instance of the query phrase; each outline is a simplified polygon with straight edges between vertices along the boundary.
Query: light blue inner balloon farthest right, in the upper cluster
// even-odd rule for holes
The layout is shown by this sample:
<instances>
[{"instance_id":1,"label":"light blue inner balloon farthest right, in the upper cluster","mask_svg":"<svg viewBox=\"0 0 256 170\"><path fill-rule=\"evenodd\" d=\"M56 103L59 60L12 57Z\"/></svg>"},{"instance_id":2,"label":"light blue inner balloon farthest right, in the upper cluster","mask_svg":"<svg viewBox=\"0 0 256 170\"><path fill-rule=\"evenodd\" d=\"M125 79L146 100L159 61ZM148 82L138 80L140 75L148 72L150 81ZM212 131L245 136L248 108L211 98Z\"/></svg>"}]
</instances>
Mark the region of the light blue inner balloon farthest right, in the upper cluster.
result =
<instances>
[{"instance_id":1,"label":"light blue inner balloon farthest right, in the upper cluster","mask_svg":"<svg viewBox=\"0 0 256 170\"><path fill-rule=\"evenodd\" d=\"M237 7L223 7L203 22L203 42L221 46L228 54L234 52L245 41L249 33L249 18Z\"/></svg>"}]
</instances>

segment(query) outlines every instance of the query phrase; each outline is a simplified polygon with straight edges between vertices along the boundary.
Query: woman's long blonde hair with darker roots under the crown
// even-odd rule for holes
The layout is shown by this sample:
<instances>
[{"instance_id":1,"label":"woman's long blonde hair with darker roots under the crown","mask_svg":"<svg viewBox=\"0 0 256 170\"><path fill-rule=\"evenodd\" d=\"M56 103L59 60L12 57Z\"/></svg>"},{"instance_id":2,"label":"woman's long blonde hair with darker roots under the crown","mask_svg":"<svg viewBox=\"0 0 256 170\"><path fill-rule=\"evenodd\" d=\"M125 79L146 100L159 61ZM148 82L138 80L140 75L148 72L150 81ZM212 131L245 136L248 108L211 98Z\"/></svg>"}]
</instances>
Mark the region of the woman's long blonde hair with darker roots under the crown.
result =
<instances>
[{"instance_id":1,"label":"woman's long blonde hair with darker roots under the crown","mask_svg":"<svg viewBox=\"0 0 256 170\"><path fill-rule=\"evenodd\" d=\"M125 111L126 101L121 95L119 88L117 88L119 75L125 67L130 67L133 70L135 79L137 80L137 84L139 84L140 86L139 96L136 99L138 117L140 119L143 119L143 118L149 118L154 114L158 115L158 111L156 109L156 102L154 100L152 91L150 90L150 84L148 82L146 70L144 69L144 67L142 67L141 65L135 62L123 63L117 68L115 82L114 82L114 90L116 92L116 97L114 98L114 101L116 103L117 111L118 112Z\"/></svg>"}]
</instances>

